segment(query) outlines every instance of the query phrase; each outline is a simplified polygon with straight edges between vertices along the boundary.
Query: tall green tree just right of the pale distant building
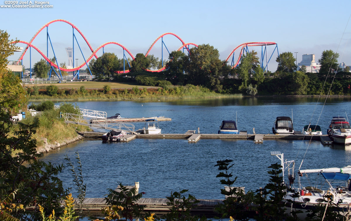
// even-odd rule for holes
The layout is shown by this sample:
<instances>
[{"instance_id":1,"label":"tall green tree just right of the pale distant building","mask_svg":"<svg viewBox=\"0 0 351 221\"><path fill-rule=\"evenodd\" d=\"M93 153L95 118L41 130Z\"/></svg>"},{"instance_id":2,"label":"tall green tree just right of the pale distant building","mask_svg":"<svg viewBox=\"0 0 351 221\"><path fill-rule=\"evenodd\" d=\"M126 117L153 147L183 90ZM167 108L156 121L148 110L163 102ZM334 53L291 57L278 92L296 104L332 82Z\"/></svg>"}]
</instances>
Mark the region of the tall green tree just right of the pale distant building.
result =
<instances>
[{"instance_id":1,"label":"tall green tree just right of the pale distant building","mask_svg":"<svg viewBox=\"0 0 351 221\"><path fill-rule=\"evenodd\" d=\"M332 50L326 50L322 52L322 56L318 59L320 63L319 73L328 74L336 72L339 64L338 64L339 54L333 52Z\"/></svg>"}]
</instances>

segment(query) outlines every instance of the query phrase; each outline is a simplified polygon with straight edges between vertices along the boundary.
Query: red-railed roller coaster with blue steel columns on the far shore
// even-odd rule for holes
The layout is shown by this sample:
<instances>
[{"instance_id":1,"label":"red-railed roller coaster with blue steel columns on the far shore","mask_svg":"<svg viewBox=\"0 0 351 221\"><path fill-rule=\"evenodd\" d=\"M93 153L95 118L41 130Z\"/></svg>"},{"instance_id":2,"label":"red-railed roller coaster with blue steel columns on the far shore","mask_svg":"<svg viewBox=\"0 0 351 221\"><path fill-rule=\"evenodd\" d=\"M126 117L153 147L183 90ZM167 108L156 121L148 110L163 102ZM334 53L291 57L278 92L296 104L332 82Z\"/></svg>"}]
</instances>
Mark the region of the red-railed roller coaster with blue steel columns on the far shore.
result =
<instances>
[{"instance_id":1,"label":"red-railed roller coaster with blue steel columns on the far shore","mask_svg":"<svg viewBox=\"0 0 351 221\"><path fill-rule=\"evenodd\" d=\"M50 24L53 24L55 22L65 22L67 23L68 25L71 25L72 26L72 35L73 35L73 61L74 61L74 44L75 42L77 43L78 47L79 47L79 50L80 50L80 53L84 59L84 62L81 63L81 65L77 65L77 67L74 67L74 62L73 62L73 68L62 68L62 67L59 67L57 64L58 64L58 61L57 61L57 57L55 55L55 51L54 51L54 48L53 48L53 45L52 45L52 42L51 42L51 39L50 39L50 35L49 35L49 32L48 32L48 27ZM46 28L46 36L47 36L47 55L45 55L42 51L40 51L40 49L38 47L36 47L35 45L33 45L33 41L34 39L38 36L38 34L40 32L42 32L44 29ZM92 52L91 55L86 59L83 52L82 52L82 49L79 45L79 42L75 36L75 31L78 32L82 38L85 40L86 44L88 45L90 51ZM165 35L173 35L175 36L180 42L181 42L181 46L178 48L178 51L181 51L183 50L183 52L189 52L190 51L190 46L195 46L195 47L198 47L198 45L196 45L195 43L185 43L178 35L174 34L174 33L164 33L162 35L160 35L157 39L155 39L155 41L152 43L152 45L150 46L150 48L147 50L147 52L145 53L145 57L150 53L152 47L155 45L155 43L161 39L161 43L162 43L162 47L161 47L161 61L162 61L162 68L158 69L158 70L151 70L151 69L147 69L147 71L149 72L161 72L163 70L166 69L166 64L163 63L163 48L165 47L168 54L170 54L171 52L168 50L164 40L163 40L163 37ZM125 61L127 61L127 65L129 67L131 67L131 64L128 62L127 60L127 57L126 57L126 54L129 54L131 56L131 58L134 60L134 56L133 54L122 44L118 43L118 42L106 42L102 45L100 45L97 49L93 49L92 46L90 45L89 41L87 40L87 38L84 36L84 34L79 30L79 28L77 26L75 26L74 24L72 24L71 22L69 21L66 21L66 20L62 20L62 19L58 19L58 20L53 20L53 21L50 21L48 22L47 24L45 24L44 26L42 26L35 34L34 36L32 37L32 39L29 41L29 42L26 42L26 41L14 41L12 43L24 43L26 46L26 48L22 51L20 57L19 57L19 61L21 61L22 63L22 60L23 60L23 57L24 55L26 54L26 52L28 51L28 48L29 48L29 66L30 66L30 78L32 78L32 59L31 59L31 49L34 48L37 52L39 52L41 54L41 56L47 61L47 63L51 66L51 69L50 69L50 73L49 73L49 78L51 77L51 73L52 71L55 72L55 74L58 76L59 79L62 79L62 74L61 74L61 71L73 71L73 78L74 79L77 75L78 75L78 78L79 78L79 69L81 69L82 67L84 67L85 65L87 66L90 74L92 75L91 71L90 71L90 68L89 68L89 65L88 65L88 62L93 58L98 58L97 56L97 52L100 51L100 49L102 48L102 53L104 53L104 47L106 45L111 45L111 44L114 44L114 45L118 45L120 46L122 49L123 49L123 71L118 71L118 73L128 73L129 72L129 69L126 70L126 64L125 64ZM49 58L48 58L48 54L49 54L49 43L50 43L50 46L51 46L51 49L52 49L52 52L54 54L54 58L55 58L55 61L56 63L52 62ZM270 46L270 45L275 45L275 48L270 56L270 58L268 59L268 56L267 56L267 46ZM275 52L275 50L277 49L277 53L278 53L278 56L279 56L279 52L278 52L278 45L277 43L275 42L246 42L246 43L242 43L240 45L238 45L236 48L233 49L233 51L227 56L227 59L225 60L225 63L227 63L229 61L229 59L232 57L231 59L231 67L232 68L235 68L237 67L237 65L239 64L240 62L240 59L241 59L241 56L244 54L244 53L249 53L249 48L250 46L261 46L261 58L260 58L260 64L261 64L261 68L263 70L265 69L268 69L268 63L269 61L271 60L272 56L273 56L273 53ZM240 48L241 47L241 48ZM234 52L240 48L240 52L239 52L239 56L238 56L238 59L236 60L236 62L234 62ZM264 60L266 59L266 65L264 65ZM57 73L55 71L55 68L58 69L59 73ZM75 74L74 74L74 71L77 71Z\"/></svg>"}]
</instances>

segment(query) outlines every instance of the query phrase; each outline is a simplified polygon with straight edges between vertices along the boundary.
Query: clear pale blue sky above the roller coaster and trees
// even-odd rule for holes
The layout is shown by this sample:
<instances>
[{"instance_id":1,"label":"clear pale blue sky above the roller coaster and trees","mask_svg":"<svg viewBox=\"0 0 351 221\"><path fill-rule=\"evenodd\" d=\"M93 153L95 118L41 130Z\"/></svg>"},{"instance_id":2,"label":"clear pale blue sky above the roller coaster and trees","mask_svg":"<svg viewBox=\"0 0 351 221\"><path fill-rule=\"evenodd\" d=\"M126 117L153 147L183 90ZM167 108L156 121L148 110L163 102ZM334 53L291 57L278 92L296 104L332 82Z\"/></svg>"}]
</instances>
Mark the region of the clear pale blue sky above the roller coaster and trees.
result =
<instances>
[{"instance_id":1,"label":"clear pale blue sky above the roller coaster and trees","mask_svg":"<svg viewBox=\"0 0 351 221\"><path fill-rule=\"evenodd\" d=\"M32 1L34 2L34 1ZM4 5L4 1L0 3ZM0 8L1 26L11 38L30 41L32 36L47 22L64 19L76 25L91 43L93 49L105 42L118 42L135 56L146 53L153 41L161 34L172 32L185 42L210 44L218 49L220 59L225 59L234 47L250 41L274 41L279 53L298 52L297 62L303 54L316 54L331 49L340 54L339 63L351 65L351 1L51 1L53 8ZM345 30L346 27L346 30ZM342 38L342 35L345 34ZM72 27L64 22L51 24L48 32L58 62L66 62L65 47L72 46ZM85 58L91 52L82 38L78 37ZM170 51L181 43L167 35L164 42ZM46 32L41 32L33 44L46 54ZM24 47L23 44L18 46ZM50 46L49 46L50 47ZM260 47L252 47L260 55ZM268 47L272 54L274 46ZM105 52L123 57L118 46L106 46ZM102 51L100 52L101 55ZM161 57L161 42L157 42L150 54ZM238 54L238 52L236 53ZM16 52L9 60L17 60ZM168 57L164 48L164 59ZM32 67L41 55L32 50ZM49 57L53 57L49 48ZM274 52L269 70L276 70ZM75 58L84 61L75 43ZM29 67L29 52L24 57Z\"/></svg>"}]
</instances>

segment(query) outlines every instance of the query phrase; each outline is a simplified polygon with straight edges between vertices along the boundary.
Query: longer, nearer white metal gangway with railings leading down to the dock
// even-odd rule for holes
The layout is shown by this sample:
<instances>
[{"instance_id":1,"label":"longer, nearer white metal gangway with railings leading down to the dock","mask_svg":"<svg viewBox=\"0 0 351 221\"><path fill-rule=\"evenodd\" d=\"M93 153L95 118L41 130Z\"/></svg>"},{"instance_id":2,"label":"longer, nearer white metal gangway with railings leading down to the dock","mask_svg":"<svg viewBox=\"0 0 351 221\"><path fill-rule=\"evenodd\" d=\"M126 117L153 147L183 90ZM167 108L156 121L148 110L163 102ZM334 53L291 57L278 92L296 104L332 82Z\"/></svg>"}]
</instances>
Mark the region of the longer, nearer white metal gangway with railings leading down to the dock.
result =
<instances>
[{"instance_id":1,"label":"longer, nearer white metal gangway with railings leading down to the dock","mask_svg":"<svg viewBox=\"0 0 351 221\"><path fill-rule=\"evenodd\" d=\"M64 113L63 118L66 123L73 123L77 125L85 125L89 127L97 127L108 130L126 130L131 134L135 133L135 127L132 123L126 122L108 122L108 120L101 121L97 118L86 118L80 114Z\"/></svg>"}]
</instances>

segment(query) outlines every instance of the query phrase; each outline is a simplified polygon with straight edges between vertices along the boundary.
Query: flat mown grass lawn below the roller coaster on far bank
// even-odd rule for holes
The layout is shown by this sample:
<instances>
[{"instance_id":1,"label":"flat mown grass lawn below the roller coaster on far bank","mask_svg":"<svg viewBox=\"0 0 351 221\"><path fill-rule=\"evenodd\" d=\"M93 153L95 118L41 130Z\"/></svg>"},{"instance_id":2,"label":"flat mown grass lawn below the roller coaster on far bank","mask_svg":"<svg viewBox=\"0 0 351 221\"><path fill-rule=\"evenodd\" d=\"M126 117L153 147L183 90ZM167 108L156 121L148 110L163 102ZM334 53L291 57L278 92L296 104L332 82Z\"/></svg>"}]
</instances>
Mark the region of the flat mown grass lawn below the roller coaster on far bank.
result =
<instances>
[{"instance_id":1,"label":"flat mown grass lawn below the roller coaster on far bank","mask_svg":"<svg viewBox=\"0 0 351 221\"><path fill-rule=\"evenodd\" d=\"M40 83L40 84L27 84L23 85L25 87L33 87L33 86L48 86L48 85L56 85L59 88L80 88L80 86L85 86L86 89L98 89L103 88L104 85L109 85L111 88L115 89L125 89L125 88L158 88L151 86L141 86L141 85L133 85L131 83L117 83L117 82L97 82L97 81L68 81L65 83Z\"/></svg>"}]
</instances>

